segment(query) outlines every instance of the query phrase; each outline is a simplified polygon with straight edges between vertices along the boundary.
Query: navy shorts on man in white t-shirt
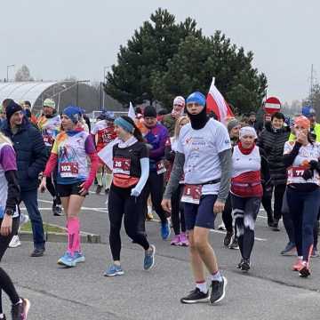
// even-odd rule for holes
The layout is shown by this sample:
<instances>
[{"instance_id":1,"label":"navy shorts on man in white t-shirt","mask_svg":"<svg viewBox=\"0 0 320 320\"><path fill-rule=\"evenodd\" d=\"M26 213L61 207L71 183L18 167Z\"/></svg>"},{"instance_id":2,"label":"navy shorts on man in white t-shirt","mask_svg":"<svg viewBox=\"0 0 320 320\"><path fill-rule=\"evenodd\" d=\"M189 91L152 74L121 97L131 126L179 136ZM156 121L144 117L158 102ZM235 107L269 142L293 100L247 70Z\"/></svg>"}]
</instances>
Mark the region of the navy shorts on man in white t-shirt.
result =
<instances>
[{"instance_id":1,"label":"navy shorts on man in white t-shirt","mask_svg":"<svg viewBox=\"0 0 320 320\"><path fill-rule=\"evenodd\" d=\"M201 196L200 204L184 203L184 215L187 230L195 227L214 228L216 214L213 212L213 205L217 195Z\"/></svg>"}]
</instances>

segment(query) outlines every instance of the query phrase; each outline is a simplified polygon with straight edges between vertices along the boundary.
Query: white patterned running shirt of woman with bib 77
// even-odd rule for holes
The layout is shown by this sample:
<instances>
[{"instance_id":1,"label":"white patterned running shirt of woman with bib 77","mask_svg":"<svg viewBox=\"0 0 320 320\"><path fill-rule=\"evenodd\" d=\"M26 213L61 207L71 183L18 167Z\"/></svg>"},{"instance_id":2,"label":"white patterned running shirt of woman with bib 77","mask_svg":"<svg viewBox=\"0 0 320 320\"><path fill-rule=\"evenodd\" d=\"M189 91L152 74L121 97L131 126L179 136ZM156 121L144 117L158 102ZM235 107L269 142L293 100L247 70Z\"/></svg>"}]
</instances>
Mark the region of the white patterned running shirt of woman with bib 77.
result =
<instances>
[{"instance_id":1,"label":"white patterned running shirt of woman with bib 77","mask_svg":"<svg viewBox=\"0 0 320 320\"><path fill-rule=\"evenodd\" d=\"M290 154L294 147L293 141L286 141L284 143L284 155ZM320 158L320 143L309 143L307 146L301 146L298 156L295 157L293 164L288 168L288 180L287 184L291 183L316 183L320 186L319 173L314 170L314 177L312 179L304 180L302 174L304 172L304 162L311 160L319 161Z\"/></svg>"}]
</instances>

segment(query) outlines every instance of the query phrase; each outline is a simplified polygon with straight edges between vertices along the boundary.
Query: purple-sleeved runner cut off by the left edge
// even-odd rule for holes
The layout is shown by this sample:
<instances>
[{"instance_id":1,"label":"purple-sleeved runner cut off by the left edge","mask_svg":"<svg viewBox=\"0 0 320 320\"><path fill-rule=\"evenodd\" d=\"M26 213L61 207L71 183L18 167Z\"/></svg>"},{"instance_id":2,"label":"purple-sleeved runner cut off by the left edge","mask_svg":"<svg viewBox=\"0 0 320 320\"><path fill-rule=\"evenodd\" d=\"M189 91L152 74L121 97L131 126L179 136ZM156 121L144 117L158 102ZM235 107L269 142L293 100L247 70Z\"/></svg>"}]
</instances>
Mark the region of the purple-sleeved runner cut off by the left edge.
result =
<instances>
[{"instance_id":1,"label":"purple-sleeved runner cut off by the left edge","mask_svg":"<svg viewBox=\"0 0 320 320\"><path fill-rule=\"evenodd\" d=\"M0 261L19 227L19 197L16 155L12 142L0 133ZM5 320L2 290L12 302L12 319L27 319L30 302L20 298L12 284L12 279L0 267L0 319Z\"/></svg>"}]
</instances>

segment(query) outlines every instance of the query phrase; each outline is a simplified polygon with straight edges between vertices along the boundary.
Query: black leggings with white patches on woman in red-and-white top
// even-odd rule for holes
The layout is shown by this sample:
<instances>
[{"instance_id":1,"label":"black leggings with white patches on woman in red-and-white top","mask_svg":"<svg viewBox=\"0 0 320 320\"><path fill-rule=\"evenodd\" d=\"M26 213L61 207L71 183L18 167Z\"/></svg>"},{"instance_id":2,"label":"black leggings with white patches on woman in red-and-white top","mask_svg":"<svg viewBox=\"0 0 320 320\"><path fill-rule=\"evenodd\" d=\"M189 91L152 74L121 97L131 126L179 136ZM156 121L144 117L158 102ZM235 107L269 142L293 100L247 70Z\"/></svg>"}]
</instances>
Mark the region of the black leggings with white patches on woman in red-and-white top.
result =
<instances>
[{"instance_id":1,"label":"black leggings with white patches on woman in red-and-white top","mask_svg":"<svg viewBox=\"0 0 320 320\"><path fill-rule=\"evenodd\" d=\"M260 210L261 199L231 195L231 201L241 256L243 259L250 259L254 244L254 225Z\"/></svg>"}]
</instances>

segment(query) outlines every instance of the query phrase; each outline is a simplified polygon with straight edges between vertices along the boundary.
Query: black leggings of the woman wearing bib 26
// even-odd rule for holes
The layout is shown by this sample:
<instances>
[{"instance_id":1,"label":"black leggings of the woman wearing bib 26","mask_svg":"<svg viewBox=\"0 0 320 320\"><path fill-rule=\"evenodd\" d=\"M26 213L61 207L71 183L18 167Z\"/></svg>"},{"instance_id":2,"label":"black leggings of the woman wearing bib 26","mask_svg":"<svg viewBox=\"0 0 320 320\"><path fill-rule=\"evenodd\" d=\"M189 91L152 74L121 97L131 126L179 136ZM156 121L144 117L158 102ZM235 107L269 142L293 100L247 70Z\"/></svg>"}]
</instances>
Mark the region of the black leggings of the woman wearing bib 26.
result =
<instances>
[{"instance_id":1,"label":"black leggings of the woman wearing bib 26","mask_svg":"<svg viewBox=\"0 0 320 320\"><path fill-rule=\"evenodd\" d=\"M117 188L113 184L108 196L108 215L110 220L109 243L114 261L120 260L121 237L120 229L124 216L124 229L134 243L148 250L147 237L138 232L138 223L142 211L142 197L131 195L132 188Z\"/></svg>"}]
</instances>

